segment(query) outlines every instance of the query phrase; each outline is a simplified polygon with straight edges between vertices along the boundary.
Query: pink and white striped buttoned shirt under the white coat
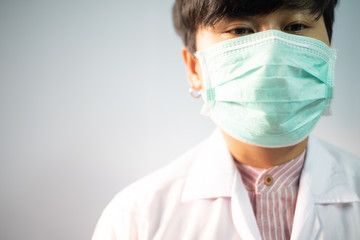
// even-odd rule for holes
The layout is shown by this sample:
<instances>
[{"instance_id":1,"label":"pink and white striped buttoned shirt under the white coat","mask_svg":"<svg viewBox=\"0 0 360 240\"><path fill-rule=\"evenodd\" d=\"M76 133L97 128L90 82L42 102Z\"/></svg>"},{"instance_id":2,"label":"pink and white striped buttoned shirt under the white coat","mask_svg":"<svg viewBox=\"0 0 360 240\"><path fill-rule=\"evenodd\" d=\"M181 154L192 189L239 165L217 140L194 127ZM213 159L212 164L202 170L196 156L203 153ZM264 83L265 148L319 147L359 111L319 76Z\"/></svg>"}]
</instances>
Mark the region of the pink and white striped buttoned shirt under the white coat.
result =
<instances>
[{"instance_id":1,"label":"pink and white striped buttoned shirt under the white coat","mask_svg":"<svg viewBox=\"0 0 360 240\"><path fill-rule=\"evenodd\" d=\"M262 239L290 239L305 151L270 169L236 161L248 190Z\"/></svg>"}]
</instances>

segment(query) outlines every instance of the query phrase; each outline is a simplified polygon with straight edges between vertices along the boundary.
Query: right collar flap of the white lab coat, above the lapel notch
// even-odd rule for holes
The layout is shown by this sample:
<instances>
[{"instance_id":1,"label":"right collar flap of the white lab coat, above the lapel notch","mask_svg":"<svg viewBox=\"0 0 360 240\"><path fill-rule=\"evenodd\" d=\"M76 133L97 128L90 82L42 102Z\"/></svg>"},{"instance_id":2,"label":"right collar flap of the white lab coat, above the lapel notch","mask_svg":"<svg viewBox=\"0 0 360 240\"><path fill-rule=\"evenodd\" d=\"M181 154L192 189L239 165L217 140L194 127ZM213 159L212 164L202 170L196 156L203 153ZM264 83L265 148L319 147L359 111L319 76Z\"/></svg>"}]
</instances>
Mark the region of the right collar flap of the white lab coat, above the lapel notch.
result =
<instances>
[{"instance_id":1,"label":"right collar flap of the white lab coat, above the lapel notch","mask_svg":"<svg viewBox=\"0 0 360 240\"><path fill-rule=\"evenodd\" d=\"M348 178L335 156L319 139L310 136L300 188L310 188L315 204L360 201L360 194Z\"/></svg>"}]
</instances>

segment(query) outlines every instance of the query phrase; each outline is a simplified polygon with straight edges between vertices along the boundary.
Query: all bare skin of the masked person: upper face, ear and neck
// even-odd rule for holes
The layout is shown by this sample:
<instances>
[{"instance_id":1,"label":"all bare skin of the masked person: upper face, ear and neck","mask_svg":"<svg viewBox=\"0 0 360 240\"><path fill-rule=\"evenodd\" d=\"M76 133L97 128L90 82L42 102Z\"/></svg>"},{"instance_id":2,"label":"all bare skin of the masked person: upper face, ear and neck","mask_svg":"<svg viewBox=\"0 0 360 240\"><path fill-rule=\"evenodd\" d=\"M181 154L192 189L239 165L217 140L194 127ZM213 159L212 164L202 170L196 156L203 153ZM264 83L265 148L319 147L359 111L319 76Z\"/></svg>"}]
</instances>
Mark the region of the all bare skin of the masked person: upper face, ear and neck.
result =
<instances>
[{"instance_id":1,"label":"all bare skin of the masked person: upper face, ear and neck","mask_svg":"<svg viewBox=\"0 0 360 240\"><path fill-rule=\"evenodd\" d=\"M196 33L196 50L200 51L225 40L267 30L312 37L330 45L322 16L316 19L305 10L281 8L263 16L223 18L214 26L199 27ZM186 47L182 49L182 56L190 86L196 91L201 90L203 82L198 59ZM264 148L241 142L224 131L222 135L236 161L258 168L271 168L294 159L305 150L308 142L306 138L290 147Z\"/></svg>"}]
</instances>

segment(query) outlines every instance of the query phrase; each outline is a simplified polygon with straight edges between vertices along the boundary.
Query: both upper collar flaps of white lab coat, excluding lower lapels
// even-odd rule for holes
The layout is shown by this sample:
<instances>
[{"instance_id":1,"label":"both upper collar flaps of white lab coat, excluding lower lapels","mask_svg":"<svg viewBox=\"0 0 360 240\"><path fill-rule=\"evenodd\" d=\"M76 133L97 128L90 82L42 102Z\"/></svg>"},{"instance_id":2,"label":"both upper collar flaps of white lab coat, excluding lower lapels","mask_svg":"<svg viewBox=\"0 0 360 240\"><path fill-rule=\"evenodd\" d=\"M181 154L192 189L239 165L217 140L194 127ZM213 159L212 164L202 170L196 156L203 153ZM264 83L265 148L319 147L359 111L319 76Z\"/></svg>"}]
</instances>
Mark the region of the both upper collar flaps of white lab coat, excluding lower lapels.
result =
<instances>
[{"instance_id":1,"label":"both upper collar flaps of white lab coat, excluding lower lapels","mask_svg":"<svg viewBox=\"0 0 360 240\"><path fill-rule=\"evenodd\" d=\"M237 169L219 129L202 144L192 165L182 201L201 198L231 197ZM349 184L349 176L324 144L310 136L300 179L315 204L360 201L360 193ZM298 201L299 202L299 201Z\"/></svg>"}]
</instances>

